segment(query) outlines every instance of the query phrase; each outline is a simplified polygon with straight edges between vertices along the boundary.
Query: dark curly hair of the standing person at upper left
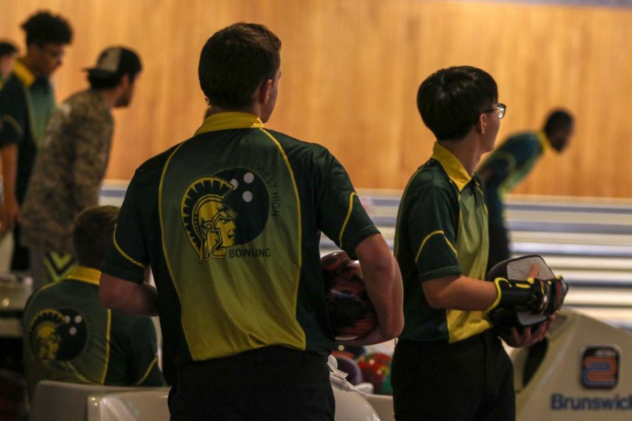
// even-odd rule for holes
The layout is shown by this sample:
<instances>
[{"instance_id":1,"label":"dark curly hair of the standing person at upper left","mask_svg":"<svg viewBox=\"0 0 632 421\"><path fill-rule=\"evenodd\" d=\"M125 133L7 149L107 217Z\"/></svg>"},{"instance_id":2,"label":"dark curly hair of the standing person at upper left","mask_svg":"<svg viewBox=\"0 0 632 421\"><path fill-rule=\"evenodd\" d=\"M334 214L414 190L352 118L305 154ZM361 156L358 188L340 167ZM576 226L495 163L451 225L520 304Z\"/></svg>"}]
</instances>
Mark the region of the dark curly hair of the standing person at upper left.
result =
<instances>
[{"instance_id":1,"label":"dark curly hair of the standing person at upper left","mask_svg":"<svg viewBox=\"0 0 632 421\"><path fill-rule=\"evenodd\" d=\"M70 44L72 28L61 15L40 11L22 23L27 34L27 46L31 44Z\"/></svg>"}]
</instances>

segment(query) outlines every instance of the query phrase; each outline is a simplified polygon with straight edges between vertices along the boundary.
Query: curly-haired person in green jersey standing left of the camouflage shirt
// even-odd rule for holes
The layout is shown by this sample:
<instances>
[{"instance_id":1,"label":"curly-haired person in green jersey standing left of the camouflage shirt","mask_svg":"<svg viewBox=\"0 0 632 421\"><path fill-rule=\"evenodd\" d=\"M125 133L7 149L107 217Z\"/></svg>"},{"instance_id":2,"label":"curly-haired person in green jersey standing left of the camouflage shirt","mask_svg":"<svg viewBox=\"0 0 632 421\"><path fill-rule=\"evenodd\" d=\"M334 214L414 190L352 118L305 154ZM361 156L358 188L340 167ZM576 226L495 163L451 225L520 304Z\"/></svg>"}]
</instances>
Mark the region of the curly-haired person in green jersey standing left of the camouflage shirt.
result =
<instances>
[{"instance_id":1,"label":"curly-haired person in green jersey standing left of the camouflage shirt","mask_svg":"<svg viewBox=\"0 0 632 421\"><path fill-rule=\"evenodd\" d=\"M11 269L30 269L29 252L20 247L20 217L37 148L55 109L50 77L62 64L72 29L60 15L35 13L22 24L27 50L15 60L0 90L0 155L2 202L0 234L13 231Z\"/></svg>"}]
</instances>

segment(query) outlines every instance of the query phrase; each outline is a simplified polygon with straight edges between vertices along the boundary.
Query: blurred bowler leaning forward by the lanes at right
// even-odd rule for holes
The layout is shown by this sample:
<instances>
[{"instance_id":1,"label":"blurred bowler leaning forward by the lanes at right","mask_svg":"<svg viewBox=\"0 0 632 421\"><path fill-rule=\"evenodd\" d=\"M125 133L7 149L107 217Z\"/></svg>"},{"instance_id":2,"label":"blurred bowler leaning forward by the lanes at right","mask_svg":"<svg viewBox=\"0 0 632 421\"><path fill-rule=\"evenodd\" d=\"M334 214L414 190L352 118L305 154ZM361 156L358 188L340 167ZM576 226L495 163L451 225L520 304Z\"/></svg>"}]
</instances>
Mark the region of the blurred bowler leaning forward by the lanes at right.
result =
<instances>
[{"instance_id":1,"label":"blurred bowler leaning forward by the lanes at right","mask_svg":"<svg viewBox=\"0 0 632 421\"><path fill-rule=\"evenodd\" d=\"M485 183L489 210L489 261L487 270L510 257L503 196L524 179L548 151L562 152L573 134L572 115L555 109L541 131L511 135L487 156L477 172Z\"/></svg>"}]
</instances>

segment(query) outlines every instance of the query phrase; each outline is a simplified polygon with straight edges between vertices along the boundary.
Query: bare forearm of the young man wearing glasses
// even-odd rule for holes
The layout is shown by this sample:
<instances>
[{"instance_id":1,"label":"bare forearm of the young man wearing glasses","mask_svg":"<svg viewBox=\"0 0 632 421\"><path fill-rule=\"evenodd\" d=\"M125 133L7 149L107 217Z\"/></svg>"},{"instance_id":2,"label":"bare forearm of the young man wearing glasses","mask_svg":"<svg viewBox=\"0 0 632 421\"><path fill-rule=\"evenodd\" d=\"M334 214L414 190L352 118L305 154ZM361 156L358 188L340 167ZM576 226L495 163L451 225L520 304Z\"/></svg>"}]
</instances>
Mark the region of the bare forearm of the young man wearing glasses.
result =
<instances>
[{"instance_id":1,"label":"bare forearm of the young man wearing glasses","mask_svg":"<svg viewBox=\"0 0 632 421\"><path fill-rule=\"evenodd\" d=\"M442 276L422 283L431 307L464 311L485 310L497 297L493 282L463 275Z\"/></svg>"}]
</instances>

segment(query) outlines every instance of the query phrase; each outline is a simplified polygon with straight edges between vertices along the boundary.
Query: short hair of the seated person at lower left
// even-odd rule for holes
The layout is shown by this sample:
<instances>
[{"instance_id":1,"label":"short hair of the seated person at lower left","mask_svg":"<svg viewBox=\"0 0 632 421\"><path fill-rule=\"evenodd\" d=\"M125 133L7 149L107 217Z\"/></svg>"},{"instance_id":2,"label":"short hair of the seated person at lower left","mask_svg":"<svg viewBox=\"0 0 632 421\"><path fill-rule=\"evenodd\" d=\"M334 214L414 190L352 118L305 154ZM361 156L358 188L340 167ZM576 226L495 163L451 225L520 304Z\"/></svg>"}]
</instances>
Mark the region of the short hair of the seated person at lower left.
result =
<instances>
[{"instance_id":1,"label":"short hair of the seated person at lower left","mask_svg":"<svg viewBox=\"0 0 632 421\"><path fill-rule=\"evenodd\" d=\"M100 269L118 216L116 206L94 206L74 218L72 244L79 265Z\"/></svg>"}]
</instances>

